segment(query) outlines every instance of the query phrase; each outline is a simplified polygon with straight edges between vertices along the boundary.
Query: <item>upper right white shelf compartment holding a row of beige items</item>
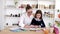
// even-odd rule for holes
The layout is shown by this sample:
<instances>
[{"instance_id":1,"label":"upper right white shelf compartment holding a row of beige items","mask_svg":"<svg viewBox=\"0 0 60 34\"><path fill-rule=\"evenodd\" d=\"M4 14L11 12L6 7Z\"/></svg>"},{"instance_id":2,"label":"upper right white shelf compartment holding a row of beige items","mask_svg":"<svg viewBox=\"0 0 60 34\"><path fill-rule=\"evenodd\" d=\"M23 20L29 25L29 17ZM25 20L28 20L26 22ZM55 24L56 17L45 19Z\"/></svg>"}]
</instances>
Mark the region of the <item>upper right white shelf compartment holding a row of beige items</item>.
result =
<instances>
[{"instance_id":1,"label":"upper right white shelf compartment holding a row of beige items","mask_svg":"<svg viewBox=\"0 0 60 34\"><path fill-rule=\"evenodd\" d=\"M38 0L39 9L55 9L55 1Z\"/></svg>"}]
</instances>

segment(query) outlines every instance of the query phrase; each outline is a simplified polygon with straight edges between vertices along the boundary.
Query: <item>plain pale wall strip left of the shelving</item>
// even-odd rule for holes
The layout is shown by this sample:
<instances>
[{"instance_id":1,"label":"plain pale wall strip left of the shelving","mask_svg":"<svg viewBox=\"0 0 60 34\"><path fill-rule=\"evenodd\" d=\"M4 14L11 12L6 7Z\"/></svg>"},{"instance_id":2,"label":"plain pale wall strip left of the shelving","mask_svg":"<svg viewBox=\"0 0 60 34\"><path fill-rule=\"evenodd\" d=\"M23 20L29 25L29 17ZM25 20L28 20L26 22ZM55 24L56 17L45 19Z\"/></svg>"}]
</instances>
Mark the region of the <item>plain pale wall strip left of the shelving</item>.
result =
<instances>
[{"instance_id":1,"label":"plain pale wall strip left of the shelving","mask_svg":"<svg viewBox=\"0 0 60 34\"><path fill-rule=\"evenodd\" d=\"M0 0L0 29L4 27L4 0Z\"/></svg>"}]
</instances>

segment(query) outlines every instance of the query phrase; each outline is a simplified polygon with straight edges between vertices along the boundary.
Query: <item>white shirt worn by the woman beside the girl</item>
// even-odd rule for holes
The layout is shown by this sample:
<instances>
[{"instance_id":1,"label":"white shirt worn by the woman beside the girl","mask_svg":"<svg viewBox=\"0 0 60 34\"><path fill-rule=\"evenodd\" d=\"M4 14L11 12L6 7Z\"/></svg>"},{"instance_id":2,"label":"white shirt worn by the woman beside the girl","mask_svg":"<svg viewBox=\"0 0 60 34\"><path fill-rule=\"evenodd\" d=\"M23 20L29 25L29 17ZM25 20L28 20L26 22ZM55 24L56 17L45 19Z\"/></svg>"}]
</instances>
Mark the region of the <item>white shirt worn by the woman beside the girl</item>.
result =
<instances>
[{"instance_id":1,"label":"white shirt worn by the woman beside the girl","mask_svg":"<svg viewBox=\"0 0 60 34\"><path fill-rule=\"evenodd\" d=\"M23 14L23 15L20 17L19 26L24 27L25 25L30 25L32 19L33 19L33 15L31 15L30 17L28 17L27 13Z\"/></svg>"}]
</instances>

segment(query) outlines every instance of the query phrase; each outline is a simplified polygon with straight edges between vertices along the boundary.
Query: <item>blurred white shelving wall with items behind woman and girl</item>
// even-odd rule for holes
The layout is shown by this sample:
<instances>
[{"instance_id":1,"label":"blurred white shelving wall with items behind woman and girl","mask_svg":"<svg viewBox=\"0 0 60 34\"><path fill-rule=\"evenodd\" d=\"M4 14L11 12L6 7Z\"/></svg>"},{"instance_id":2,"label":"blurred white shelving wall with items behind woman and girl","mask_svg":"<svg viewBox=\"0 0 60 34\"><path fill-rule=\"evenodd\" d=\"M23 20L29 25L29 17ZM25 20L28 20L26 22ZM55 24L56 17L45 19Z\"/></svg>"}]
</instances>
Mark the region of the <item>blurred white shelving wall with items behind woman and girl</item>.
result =
<instances>
[{"instance_id":1,"label":"blurred white shelving wall with items behind woman and girl","mask_svg":"<svg viewBox=\"0 0 60 34\"><path fill-rule=\"evenodd\" d=\"M0 0L0 23L4 26L18 24L20 16L26 12L25 7L29 4L33 8L33 14L38 9L42 10L45 25L50 27L54 24L55 18L58 18L57 2L55 0Z\"/></svg>"}]
</instances>

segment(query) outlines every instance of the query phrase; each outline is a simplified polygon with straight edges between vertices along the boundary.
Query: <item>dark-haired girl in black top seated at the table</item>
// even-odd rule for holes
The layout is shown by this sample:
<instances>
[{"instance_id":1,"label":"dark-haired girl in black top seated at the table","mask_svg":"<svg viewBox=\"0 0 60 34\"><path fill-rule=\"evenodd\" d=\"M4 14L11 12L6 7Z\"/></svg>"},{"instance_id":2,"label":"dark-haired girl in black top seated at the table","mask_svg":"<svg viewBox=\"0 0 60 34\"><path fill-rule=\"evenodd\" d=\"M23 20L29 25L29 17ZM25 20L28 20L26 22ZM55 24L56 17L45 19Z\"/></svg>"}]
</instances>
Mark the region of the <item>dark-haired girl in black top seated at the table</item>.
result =
<instances>
[{"instance_id":1,"label":"dark-haired girl in black top seated at the table","mask_svg":"<svg viewBox=\"0 0 60 34\"><path fill-rule=\"evenodd\" d=\"M31 25L34 27L45 27L44 21L42 19L41 10L37 10L34 18L32 19Z\"/></svg>"}]
</instances>

